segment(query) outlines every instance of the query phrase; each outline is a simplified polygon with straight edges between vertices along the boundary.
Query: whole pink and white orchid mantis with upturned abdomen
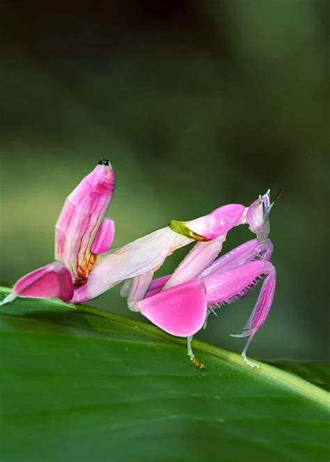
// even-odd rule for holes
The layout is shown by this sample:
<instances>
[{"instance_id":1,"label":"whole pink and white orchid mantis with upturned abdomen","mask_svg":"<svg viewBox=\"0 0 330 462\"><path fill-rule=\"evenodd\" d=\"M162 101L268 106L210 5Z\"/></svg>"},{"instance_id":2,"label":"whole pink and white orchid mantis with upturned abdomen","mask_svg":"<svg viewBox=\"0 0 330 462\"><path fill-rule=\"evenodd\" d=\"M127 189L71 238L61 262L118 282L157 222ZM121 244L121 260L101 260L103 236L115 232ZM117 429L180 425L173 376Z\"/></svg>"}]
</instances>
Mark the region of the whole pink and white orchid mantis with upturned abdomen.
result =
<instances>
[{"instance_id":1,"label":"whole pink and white orchid mantis with upturned abdomen","mask_svg":"<svg viewBox=\"0 0 330 462\"><path fill-rule=\"evenodd\" d=\"M201 366L191 340L208 314L223 303L244 297L265 277L256 306L245 330L246 351L272 306L276 270L270 258L269 191L245 207L233 203L189 222L172 220L168 226L110 250L114 224L104 218L115 185L109 160L100 161L65 201L56 222L55 260L19 279L3 305L21 297L58 297L79 303L97 297L124 282L121 294L128 306L139 311L169 334L187 337L188 355ZM256 238L217 259L226 234L234 226L249 224ZM173 275L153 275L175 249L198 241Z\"/></svg>"}]
</instances>

